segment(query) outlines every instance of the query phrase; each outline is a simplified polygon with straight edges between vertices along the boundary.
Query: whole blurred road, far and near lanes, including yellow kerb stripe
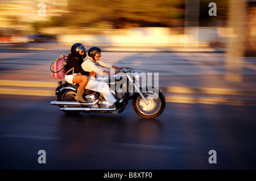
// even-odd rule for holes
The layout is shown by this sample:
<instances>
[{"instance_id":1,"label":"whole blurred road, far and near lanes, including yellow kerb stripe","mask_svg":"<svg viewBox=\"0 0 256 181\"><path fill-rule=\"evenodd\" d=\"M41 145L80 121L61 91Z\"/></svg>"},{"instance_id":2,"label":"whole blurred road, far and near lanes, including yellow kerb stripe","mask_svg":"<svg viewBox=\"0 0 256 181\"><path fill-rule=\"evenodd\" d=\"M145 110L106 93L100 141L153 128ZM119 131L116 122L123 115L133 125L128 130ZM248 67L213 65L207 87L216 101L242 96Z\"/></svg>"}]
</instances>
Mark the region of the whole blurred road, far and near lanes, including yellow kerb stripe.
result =
<instances>
[{"instance_id":1,"label":"whole blurred road, far and near lanes, including yellow kerb stripe","mask_svg":"<svg viewBox=\"0 0 256 181\"><path fill-rule=\"evenodd\" d=\"M0 50L1 169L255 169L255 57L244 58L242 82L228 82L218 51L102 52L110 64L159 73L167 106L148 121L131 103L118 115L60 112L49 104L57 86L49 65L68 46L34 45Z\"/></svg>"}]
</instances>

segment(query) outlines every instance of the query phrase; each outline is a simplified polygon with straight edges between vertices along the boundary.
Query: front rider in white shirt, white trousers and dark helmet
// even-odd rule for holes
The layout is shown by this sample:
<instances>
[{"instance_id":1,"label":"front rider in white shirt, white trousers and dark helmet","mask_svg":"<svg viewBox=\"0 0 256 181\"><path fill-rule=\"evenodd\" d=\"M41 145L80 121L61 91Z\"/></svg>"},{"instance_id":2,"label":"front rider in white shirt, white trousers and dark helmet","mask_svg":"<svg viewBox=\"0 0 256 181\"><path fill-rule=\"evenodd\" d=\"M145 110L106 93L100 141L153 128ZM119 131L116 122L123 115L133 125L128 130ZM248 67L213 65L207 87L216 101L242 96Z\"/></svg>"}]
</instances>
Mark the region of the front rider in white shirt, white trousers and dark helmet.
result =
<instances>
[{"instance_id":1,"label":"front rider in white shirt, white trousers and dark helmet","mask_svg":"<svg viewBox=\"0 0 256 181\"><path fill-rule=\"evenodd\" d=\"M101 57L101 49L98 47L91 47L88 50L88 56L89 58L86 59L84 62L82 62L82 69L85 71L94 71L98 74L100 73L106 73L110 75L109 71L105 71L101 67L109 68L109 69L121 69L114 65L106 64L102 61L100 61ZM118 70L115 70L115 74L118 73ZM115 104L116 108L122 108L124 105L122 103L119 103L117 99L115 99L114 95L110 91L110 87L108 83L97 81L94 77L89 78L88 85L86 86L86 89L90 89L93 91L101 92L104 95L104 98L107 102L109 102L110 106Z\"/></svg>"}]
</instances>

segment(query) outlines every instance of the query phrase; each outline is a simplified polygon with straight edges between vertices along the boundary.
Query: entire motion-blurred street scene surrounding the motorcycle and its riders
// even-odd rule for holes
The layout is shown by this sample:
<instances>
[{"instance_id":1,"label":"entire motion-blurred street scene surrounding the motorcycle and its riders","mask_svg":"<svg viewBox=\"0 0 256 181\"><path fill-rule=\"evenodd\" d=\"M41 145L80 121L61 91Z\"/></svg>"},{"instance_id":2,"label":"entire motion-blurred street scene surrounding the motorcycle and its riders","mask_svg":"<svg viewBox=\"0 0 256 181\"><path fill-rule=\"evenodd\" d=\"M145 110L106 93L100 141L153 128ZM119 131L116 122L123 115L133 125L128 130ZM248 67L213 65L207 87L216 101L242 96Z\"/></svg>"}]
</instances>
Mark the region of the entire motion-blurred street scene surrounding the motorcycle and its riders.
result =
<instances>
[{"instance_id":1,"label":"entire motion-blurred street scene surrounding the motorcycle and its riders","mask_svg":"<svg viewBox=\"0 0 256 181\"><path fill-rule=\"evenodd\" d=\"M0 169L255 169L256 0L0 0L0 22ZM51 106L76 42L159 73L162 115Z\"/></svg>"}]
</instances>

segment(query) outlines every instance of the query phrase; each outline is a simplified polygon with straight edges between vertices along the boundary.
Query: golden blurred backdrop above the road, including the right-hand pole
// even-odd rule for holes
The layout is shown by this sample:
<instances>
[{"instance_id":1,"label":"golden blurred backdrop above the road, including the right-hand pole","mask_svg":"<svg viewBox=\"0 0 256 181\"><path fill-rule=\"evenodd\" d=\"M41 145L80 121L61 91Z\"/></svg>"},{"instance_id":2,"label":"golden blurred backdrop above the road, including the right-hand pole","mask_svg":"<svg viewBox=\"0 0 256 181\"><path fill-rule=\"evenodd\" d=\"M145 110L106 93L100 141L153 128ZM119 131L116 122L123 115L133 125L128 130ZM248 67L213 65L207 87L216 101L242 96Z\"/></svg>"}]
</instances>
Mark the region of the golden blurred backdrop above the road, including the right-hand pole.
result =
<instances>
[{"instance_id":1,"label":"golden blurred backdrop above the road, including the right-hand pole","mask_svg":"<svg viewBox=\"0 0 256 181\"><path fill-rule=\"evenodd\" d=\"M1 0L0 43L55 41L116 47L214 48L241 81L255 56L256 1ZM214 6L214 3L216 6Z\"/></svg>"}]
</instances>

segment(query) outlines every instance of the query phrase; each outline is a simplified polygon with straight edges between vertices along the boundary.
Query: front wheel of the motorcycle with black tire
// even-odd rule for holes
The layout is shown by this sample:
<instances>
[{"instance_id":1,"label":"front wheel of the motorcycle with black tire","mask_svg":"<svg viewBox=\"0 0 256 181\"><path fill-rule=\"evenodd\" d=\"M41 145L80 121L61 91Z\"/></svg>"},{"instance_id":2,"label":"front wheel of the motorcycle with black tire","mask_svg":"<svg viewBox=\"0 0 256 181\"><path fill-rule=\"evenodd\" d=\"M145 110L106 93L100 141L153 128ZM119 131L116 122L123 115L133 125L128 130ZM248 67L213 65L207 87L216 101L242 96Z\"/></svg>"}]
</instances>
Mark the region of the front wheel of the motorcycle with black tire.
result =
<instances>
[{"instance_id":1,"label":"front wheel of the motorcycle with black tire","mask_svg":"<svg viewBox=\"0 0 256 181\"><path fill-rule=\"evenodd\" d=\"M155 91L156 92L156 91ZM152 91L143 92L143 95L148 101L148 105L141 98L141 95L135 94L133 97L134 111L144 119L155 119L160 116L166 106L166 101L162 92L158 91L158 96Z\"/></svg>"}]
</instances>

